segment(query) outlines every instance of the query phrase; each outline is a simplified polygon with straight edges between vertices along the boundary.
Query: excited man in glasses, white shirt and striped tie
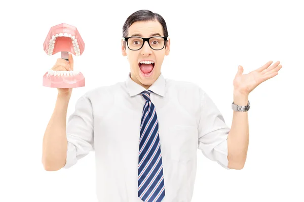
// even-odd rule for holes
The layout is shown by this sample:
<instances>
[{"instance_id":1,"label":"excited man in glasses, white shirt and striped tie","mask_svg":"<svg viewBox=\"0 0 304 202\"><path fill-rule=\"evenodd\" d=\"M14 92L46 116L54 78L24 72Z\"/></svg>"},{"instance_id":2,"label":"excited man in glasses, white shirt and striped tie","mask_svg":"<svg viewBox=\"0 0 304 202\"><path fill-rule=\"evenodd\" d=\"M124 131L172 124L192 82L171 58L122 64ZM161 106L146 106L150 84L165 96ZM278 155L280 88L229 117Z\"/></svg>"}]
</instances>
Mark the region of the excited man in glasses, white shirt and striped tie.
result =
<instances>
[{"instance_id":1,"label":"excited man in glasses, white shirt and striped tie","mask_svg":"<svg viewBox=\"0 0 304 202\"><path fill-rule=\"evenodd\" d=\"M278 74L268 62L234 79L231 129L199 86L165 79L161 67L170 52L165 20L147 10L133 13L123 26L126 81L88 91L78 99L67 126L71 89L58 89L44 136L46 170L70 168L95 151L99 201L191 201L199 148L226 169L242 169L248 148L249 93ZM58 60L53 69L73 68ZM243 107L239 107L243 106Z\"/></svg>"}]
</instances>

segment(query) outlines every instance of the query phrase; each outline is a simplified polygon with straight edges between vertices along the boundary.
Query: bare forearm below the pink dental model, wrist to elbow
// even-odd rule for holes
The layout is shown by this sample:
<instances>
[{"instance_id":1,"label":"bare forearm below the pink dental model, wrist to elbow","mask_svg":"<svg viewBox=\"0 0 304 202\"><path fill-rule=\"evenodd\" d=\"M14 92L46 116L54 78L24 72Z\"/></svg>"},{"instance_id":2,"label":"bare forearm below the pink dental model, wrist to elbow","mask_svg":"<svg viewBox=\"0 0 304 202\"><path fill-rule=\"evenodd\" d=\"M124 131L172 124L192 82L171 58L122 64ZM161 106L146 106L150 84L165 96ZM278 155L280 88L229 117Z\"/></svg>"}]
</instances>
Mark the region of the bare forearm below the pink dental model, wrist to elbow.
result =
<instances>
[{"instance_id":1,"label":"bare forearm below the pink dental model, wrist to elbow","mask_svg":"<svg viewBox=\"0 0 304 202\"><path fill-rule=\"evenodd\" d=\"M66 114L68 96L57 96L54 112L47 125L43 138L42 163L45 170L61 169L66 160Z\"/></svg>"}]
</instances>

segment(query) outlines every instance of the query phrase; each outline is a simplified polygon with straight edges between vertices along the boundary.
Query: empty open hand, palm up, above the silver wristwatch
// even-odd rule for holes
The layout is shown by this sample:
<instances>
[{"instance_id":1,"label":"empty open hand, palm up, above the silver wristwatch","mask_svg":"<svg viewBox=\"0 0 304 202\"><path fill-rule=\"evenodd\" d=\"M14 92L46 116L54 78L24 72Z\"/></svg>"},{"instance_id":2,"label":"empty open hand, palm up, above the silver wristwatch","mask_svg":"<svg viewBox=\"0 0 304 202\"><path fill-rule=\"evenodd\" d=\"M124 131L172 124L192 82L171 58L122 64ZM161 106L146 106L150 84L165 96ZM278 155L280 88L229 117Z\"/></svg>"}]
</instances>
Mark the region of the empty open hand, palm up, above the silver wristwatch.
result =
<instances>
[{"instance_id":1,"label":"empty open hand, palm up, above the silver wristwatch","mask_svg":"<svg viewBox=\"0 0 304 202\"><path fill-rule=\"evenodd\" d=\"M244 69L242 66L239 66L238 72L233 80L234 89L242 94L248 95L260 83L278 75L278 71L282 68L282 65L279 65L280 62L277 61L270 66L272 63L272 61L269 61L262 67L248 74L243 74Z\"/></svg>"}]
</instances>

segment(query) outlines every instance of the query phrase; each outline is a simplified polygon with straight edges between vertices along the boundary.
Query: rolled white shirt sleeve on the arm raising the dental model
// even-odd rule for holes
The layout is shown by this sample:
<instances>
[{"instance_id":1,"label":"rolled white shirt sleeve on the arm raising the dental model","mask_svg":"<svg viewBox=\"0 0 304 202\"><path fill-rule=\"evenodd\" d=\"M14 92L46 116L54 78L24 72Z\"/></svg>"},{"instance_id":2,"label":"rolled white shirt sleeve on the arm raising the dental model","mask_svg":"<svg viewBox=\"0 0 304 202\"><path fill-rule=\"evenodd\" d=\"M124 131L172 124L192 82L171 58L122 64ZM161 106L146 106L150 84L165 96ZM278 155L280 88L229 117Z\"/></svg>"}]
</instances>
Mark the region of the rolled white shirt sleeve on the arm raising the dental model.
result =
<instances>
[{"instance_id":1,"label":"rolled white shirt sleeve on the arm raising the dental model","mask_svg":"<svg viewBox=\"0 0 304 202\"><path fill-rule=\"evenodd\" d=\"M92 105L90 99L83 95L77 100L75 110L67 121L66 164L63 168L70 168L94 150L93 131Z\"/></svg>"}]
</instances>

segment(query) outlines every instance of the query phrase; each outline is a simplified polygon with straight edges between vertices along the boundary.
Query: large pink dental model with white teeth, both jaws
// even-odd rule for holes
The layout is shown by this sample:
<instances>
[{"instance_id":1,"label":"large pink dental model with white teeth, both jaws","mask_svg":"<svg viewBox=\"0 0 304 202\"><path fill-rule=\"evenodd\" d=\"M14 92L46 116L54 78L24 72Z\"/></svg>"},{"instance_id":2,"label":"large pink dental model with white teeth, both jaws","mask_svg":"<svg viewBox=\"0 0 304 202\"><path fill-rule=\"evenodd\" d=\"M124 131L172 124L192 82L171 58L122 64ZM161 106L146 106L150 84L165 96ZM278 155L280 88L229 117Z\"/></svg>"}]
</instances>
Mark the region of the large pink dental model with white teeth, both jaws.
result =
<instances>
[{"instance_id":1,"label":"large pink dental model with white teeth, both jaws","mask_svg":"<svg viewBox=\"0 0 304 202\"><path fill-rule=\"evenodd\" d=\"M75 56L82 55L85 43L76 27L62 23L51 27L43 43L43 48L49 56L62 52L62 55L65 54L64 59L68 60L68 52ZM85 86L85 77L79 71L49 70L43 76L43 86L54 88L83 87Z\"/></svg>"}]
</instances>

